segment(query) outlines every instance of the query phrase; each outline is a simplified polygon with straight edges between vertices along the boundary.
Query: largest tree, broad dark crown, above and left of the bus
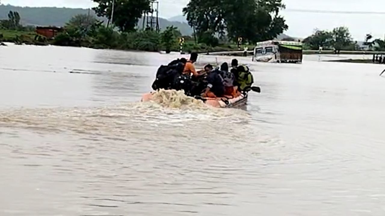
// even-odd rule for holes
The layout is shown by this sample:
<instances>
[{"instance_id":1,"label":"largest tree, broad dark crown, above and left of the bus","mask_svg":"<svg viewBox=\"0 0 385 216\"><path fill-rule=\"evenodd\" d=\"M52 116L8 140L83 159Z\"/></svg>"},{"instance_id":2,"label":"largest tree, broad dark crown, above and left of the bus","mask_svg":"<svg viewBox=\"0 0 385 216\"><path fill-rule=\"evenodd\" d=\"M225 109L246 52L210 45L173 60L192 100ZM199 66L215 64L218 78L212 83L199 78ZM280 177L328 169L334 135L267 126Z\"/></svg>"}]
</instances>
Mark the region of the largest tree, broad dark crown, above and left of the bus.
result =
<instances>
[{"instance_id":1,"label":"largest tree, broad dark crown, above and left of the bus","mask_svg":"<svg viewBox=\"0 0 385 216\"><path fill-rule=\"evenodd\" d=\"M227 30L233 40L242 37L257 42L272 39L288 28L278 15L284 7L282 0L190 0L183 13L196 29L198 40L210 38L210 33L221 37Z\"/></svg>"}]
</instances>

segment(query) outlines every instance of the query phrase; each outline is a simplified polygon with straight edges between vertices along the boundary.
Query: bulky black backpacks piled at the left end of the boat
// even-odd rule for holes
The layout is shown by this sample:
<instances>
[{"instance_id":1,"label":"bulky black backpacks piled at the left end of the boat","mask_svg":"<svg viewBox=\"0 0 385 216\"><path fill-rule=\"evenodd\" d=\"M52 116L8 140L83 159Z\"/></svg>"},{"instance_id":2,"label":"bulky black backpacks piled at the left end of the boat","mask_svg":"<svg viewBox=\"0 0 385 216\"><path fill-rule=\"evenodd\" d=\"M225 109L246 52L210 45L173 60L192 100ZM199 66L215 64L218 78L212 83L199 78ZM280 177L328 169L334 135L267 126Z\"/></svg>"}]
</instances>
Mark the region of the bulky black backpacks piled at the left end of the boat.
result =
<instances>
[{"instance_id":1,"label":"bulky black backpacks piled at the left end of the boat","mask_svg":"<svg viewBox=\"0 0 385 216\"><path fill-rule=\"evenodd\" d=\"M156 79L152 83L152 89L172 89L176 76L182 74L184 64L178 60L174 60L169 65L161 65L156 73Z\"/></svg>"}]
</instances>

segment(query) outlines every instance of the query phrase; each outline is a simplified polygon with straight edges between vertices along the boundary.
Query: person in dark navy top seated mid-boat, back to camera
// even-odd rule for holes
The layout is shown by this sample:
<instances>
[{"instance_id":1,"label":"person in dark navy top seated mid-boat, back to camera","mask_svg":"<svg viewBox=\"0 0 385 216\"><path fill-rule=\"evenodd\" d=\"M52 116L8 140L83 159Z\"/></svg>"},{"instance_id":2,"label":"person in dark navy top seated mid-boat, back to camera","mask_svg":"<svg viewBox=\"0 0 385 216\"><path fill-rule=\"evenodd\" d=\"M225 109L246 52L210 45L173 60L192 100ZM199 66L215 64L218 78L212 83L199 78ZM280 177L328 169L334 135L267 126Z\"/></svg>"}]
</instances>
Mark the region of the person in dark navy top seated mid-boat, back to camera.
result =
<instances>
[{"instance_id":1,"label":"person in dark navy top seated mid-boat, back to camera","mask_svg":"<svg viewBox=\"0 0 385 216\"><path fill-rule=\"evenodd\" d=\"M223 84L223 78L219 74L219 70L213 70L212 65L206 65L204 66L204 70L208 72L207 74L207 87L206 90L202 93L203 97L207 98L216 98L216 97L222 97L224 95L224 84Z\"/></svg>"}]
</instances>

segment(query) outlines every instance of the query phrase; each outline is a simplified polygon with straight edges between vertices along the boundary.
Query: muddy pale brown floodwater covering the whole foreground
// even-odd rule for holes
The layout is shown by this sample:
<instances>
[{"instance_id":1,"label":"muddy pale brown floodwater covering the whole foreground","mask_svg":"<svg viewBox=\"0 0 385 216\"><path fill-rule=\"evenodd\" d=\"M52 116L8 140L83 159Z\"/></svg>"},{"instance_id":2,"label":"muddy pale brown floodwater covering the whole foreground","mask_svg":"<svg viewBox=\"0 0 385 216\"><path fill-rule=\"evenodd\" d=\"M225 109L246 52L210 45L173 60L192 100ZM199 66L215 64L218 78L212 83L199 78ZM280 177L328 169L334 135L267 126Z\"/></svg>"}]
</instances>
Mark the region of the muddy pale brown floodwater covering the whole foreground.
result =
<instances>
[{"instance_id":1,"label":"muddy pale brown floodwater covering the whole foreground","mask_svg":"<svg viewBox=\"0 0 385 216\"><path fill-rule=\"evenodd\" d=\"M0 47L0 215L385 214L383 66L239 58L244 109L139 102L176 57Z\"/></svg>"}]
</instances>

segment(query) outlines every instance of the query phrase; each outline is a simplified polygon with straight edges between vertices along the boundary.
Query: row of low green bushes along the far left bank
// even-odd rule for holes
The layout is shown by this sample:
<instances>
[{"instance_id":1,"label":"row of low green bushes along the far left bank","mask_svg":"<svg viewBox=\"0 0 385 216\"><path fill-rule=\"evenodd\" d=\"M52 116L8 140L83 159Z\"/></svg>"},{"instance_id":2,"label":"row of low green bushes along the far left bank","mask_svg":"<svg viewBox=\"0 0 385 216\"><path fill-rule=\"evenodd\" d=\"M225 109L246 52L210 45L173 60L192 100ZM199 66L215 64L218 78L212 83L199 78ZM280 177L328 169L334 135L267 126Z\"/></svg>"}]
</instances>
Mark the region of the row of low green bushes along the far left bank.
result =
<instances>
[{"instance_id":1,"label":"row of low green bushes along the far left bank","mask_svg":"<svg viewBox=\"0 0 385 216\"><path fill-rule=\"evenodd\" d=\"M162 32L152 30L122 32L106 27L96 17L79 14L66 23L63 32L54 38L52 44L121 50L166 50L166 52L170 52L179 50L179 38L181 37L182 34L173 26L167 27ZM183 37L189 40L184 45L184 51L208 51L209 47L191 43L191 37Z\"/></svg>"}]
</instances>

